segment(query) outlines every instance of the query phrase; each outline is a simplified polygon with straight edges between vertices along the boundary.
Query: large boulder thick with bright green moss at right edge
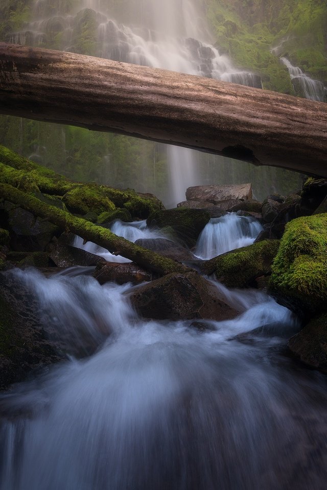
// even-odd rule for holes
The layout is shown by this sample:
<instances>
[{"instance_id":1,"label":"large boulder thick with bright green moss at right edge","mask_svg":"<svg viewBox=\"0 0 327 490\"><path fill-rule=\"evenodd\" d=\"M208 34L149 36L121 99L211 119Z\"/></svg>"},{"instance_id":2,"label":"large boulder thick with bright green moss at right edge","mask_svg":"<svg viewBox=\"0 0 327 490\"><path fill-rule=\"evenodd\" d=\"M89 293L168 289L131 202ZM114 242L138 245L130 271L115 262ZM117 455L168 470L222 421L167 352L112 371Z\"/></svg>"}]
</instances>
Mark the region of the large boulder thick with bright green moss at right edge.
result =
<instances>
[{"instance_id":1,"label":"large boulder thick with bright green moss at right edge","mask_svg":"<svg viewBox=\"0 0 327 490\"><path fill-rule=\"evenodd\" d=\"M286 225L273 262L270 288L277 301L302 314L327 310L327 214Z\"/></svg>"}]
</instances>

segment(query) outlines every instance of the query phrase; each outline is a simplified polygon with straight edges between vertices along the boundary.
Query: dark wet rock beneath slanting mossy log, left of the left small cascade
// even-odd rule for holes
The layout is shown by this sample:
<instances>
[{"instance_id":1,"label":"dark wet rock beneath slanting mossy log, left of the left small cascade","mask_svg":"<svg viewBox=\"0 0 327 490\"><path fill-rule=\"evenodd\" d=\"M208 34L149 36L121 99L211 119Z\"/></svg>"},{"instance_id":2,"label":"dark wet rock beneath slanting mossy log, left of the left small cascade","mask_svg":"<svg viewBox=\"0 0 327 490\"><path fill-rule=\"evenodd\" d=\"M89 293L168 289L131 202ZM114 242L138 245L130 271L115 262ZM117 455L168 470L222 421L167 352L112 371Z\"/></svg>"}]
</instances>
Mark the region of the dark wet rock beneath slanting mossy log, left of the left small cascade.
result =
<instances>
[{"instance_id":1,"label":"dark wet rock beneath slanting mossy log, left of the left small cascade","mask_svg":"<svg viewBox=\"0 0 327 490\"><path fill-rule=\"evenodd\" d=\"M57 267L72 267L73 265L97 265L104 259L99 255L91 254L85 250L66 245L60 241L55 241L48 247L51 260Z\"/></svg>"}]
</instances>

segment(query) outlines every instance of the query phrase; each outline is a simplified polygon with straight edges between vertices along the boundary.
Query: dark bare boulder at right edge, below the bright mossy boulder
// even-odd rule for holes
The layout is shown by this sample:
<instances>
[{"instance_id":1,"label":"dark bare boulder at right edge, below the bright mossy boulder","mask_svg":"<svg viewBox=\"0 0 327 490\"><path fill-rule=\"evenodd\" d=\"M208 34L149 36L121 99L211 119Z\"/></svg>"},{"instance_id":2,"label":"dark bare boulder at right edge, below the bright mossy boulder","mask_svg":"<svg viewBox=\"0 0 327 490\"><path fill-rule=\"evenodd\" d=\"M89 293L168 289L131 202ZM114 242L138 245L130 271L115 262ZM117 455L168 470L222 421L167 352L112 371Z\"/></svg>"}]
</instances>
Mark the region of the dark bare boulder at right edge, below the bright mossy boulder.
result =
<instances>
[{"instance_id":1,"label":"dark bare boulder at right edge, below the bright mossy boulder","mask_svg":"<svg viewBox=\"0 0 327 490\"><path fill-rule=\"evenodd\" d=\"M327 314L314 317L291 337L289 348L301 361L327 373Z\"/></svg>"}]
</instances>

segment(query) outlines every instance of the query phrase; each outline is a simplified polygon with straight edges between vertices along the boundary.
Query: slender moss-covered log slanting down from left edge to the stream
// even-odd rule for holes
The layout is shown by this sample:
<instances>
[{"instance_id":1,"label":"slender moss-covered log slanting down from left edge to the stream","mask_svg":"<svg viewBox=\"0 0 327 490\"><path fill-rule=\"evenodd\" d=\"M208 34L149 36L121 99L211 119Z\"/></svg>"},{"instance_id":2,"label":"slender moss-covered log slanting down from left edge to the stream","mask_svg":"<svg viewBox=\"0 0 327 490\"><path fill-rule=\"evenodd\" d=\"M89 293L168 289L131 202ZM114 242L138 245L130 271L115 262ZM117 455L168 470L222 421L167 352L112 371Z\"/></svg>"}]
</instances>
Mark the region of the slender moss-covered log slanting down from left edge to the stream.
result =
<instances>
[{"instance_id":1,"label":"slender moss-covered log slanting down from left edge to the stream","mask_svg":"<svg viewBox=\"0 0 327 490\"><path fill-rule=\"evenodd\" d=\"M135 243L115 235L107 228L94 225L86 219L78 218L71 213L62 211L54 206L49 206L33 195L21 192L10 184L0 184L0 195L3 199L17 204L35 216L45 218L50 223L59 226L62 230L69 230L81 236L86 241L97 243L101 247L109 250L109 252L122 255L136 264L141 265L148 271L153 271L160 275L173 272L190 272L188 267L175 260L163 257L143 247L138 247Z\"/></svg>"}]
</instances>

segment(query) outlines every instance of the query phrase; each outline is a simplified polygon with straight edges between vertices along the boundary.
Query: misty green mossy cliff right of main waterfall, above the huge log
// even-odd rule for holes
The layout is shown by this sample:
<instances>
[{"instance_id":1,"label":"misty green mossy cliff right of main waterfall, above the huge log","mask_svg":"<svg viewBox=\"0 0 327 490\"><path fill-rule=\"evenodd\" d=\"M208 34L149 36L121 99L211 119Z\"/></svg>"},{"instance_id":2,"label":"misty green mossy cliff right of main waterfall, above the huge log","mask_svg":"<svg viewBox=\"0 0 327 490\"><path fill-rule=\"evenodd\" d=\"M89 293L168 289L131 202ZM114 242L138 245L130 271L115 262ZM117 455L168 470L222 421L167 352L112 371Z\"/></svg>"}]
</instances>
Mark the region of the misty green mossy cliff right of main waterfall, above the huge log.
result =
<instances>
[{"instance_id":1,"label":"misty green mossy cliff right of main waterfall, above the huge log","mask_svg":"<svg viewBox=\"0 0 327 490\"><path fill-rule=\"evenodd\" d=\"M286 67L271 53L281 45L297 66L327 78L327 5L321 0L209 0L207 16L217 46L240 68L258 72L269 90L294 94Z\"/></svg>"}]
</instances>

